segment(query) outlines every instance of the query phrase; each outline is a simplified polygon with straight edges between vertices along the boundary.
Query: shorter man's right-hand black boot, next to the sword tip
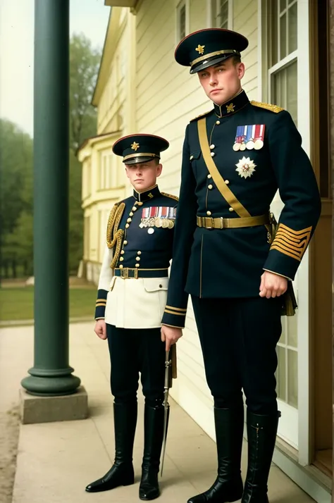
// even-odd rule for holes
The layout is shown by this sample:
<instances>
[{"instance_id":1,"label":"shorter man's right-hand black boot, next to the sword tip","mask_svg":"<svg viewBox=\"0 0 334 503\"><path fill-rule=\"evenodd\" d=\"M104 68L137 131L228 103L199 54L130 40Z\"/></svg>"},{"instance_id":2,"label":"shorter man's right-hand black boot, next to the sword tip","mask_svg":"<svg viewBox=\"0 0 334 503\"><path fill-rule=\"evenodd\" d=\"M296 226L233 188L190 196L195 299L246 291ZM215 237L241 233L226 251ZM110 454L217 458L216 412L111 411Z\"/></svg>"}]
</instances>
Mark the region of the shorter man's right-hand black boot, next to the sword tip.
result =
<instances>
[{"instance_id":1,"label":"shorter man's right-hand black boot, next to the sword tip","mask_svg":"<svg viewBox=\"0 0 334 503\"><path fill-rule=\"evenodd\" d=\"M156 499L160 496L158 473L163 442L163 405L145 404L144 413L144 456L142 459L142 479L140 499Z\"/></svg>"}]
</instances>

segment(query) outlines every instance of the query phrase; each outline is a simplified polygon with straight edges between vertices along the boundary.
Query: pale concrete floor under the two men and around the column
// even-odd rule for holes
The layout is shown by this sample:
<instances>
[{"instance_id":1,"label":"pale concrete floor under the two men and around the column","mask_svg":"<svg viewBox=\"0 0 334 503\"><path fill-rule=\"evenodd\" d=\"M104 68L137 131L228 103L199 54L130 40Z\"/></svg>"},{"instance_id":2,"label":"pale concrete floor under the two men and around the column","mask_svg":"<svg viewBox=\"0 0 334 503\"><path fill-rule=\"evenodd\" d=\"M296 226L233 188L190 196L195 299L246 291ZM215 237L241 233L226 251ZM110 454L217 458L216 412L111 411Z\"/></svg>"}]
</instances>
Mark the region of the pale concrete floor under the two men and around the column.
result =
<instances>
[{"instance_id":1,"label":"pale concrete floor under the two men and around the column","mask_svg":"<svg viewBox=\"0 0 334 503\"><path fill-rule=\"evenodd\" d=\"M33 327L0 330L0 406L18 402L20 380L33 361ZM113 414L109 392L107 344L93 333L93 323L70 325L70 364L82 380L89 399L89 418L83 421L20 426L13 503L136 502L143 445L144 403L139 414L134 449L135 485L88 494L85 485L102 476L113 462ZM192 418L171 399L161 503L185 503L209 488L216 473L216 446ZM247 468L247 442L243 475ZM269 480L271 503L314 501L277 466Z\"/></svg>"}]
</instances>

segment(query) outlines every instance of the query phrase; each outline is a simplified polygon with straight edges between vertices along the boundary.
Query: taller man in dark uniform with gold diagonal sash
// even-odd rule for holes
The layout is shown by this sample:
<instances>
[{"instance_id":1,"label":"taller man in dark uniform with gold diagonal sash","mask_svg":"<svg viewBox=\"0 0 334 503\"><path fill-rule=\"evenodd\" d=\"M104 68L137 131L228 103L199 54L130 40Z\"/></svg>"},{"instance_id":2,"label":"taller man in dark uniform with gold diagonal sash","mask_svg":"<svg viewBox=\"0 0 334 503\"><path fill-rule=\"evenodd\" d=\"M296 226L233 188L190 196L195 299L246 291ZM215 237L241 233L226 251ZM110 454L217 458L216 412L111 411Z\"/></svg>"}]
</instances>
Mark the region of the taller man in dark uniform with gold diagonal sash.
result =
<instances>
[{"instance_id":1,"label":"taller man in dark uniform with gold diagonal sash","mask_svg":"<svg viewBox=\"0 0 334 503\"><path fill-rule=\"evenodd\" d=\"M214 397L218 476L189 503L268 502L280 416L274 375L280 316L321 211L290 113L249 101L242 90L240 53L247 45L236 32L209 29L188 35L175 50L176 61L197 73L214 102L185 131L161 329L167 345L178 340L190 294ZM277 190L284 203L278 227L269 216ZM242 388L249 449L245 488Z\"/></svg>"}]
</instances>

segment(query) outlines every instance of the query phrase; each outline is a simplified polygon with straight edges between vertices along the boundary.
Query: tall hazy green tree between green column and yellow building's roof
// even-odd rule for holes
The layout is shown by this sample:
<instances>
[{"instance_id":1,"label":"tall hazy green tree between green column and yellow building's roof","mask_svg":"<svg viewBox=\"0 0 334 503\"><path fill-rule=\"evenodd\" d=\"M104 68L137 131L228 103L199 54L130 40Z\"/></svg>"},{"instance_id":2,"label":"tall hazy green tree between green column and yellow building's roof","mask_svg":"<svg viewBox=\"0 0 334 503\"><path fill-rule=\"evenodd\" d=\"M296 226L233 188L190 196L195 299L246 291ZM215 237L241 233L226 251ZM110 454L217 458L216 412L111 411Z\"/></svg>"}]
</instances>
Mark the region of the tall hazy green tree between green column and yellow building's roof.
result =
<instances>
[{"instance_id":1,"label":"tall hazy green tree between green column and yellow building's roof","mask_svg":"<svg viewBox=\"0 0 334 503\"><path fill-rule=\"evenodd\" d=\"M70 39L70 147L76 151L83 140L96 135L97 113L92 106L101 54L85 35Z\"/></svg>"}]
</instances>

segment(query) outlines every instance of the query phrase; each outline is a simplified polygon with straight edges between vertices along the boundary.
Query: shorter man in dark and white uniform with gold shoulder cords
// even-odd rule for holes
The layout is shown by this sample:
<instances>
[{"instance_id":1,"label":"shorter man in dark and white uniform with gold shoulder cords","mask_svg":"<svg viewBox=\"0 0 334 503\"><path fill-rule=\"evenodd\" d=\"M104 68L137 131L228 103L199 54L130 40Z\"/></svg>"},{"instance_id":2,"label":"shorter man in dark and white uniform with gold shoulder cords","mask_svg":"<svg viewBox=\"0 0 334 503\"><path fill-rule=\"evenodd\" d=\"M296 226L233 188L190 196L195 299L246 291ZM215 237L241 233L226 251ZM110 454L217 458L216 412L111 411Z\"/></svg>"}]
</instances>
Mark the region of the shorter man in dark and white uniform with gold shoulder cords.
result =
<instances>
[{"instance_id":1,"label":"shorter man in dark and white uniform with gold shoulder cords","mask_svg":"<svg viewBox=\"0 0 334 503\"><path fill-rule=\"evenodd\" d=\"M166 356L160 330L178 200L156 185L162 170L160 153L168 145L154 135L130 135L113 145L113 153L123 156L134 190L109 216L94 331L109 344L116 454L109 472L89 484L88 492L134 483L132 449L141 373L145 407L140 499L159 496Z\"/></svg>"}]
</instances>

